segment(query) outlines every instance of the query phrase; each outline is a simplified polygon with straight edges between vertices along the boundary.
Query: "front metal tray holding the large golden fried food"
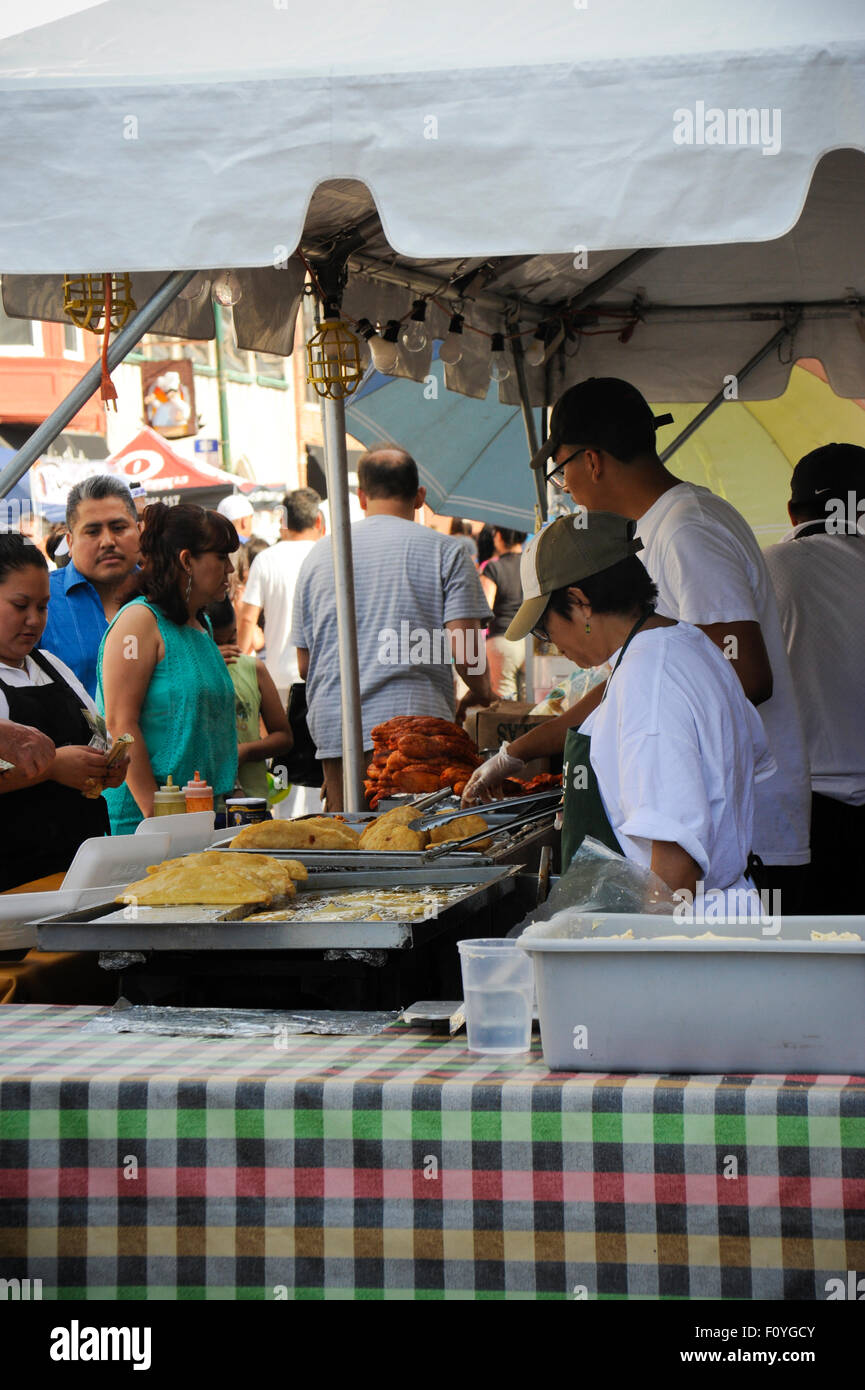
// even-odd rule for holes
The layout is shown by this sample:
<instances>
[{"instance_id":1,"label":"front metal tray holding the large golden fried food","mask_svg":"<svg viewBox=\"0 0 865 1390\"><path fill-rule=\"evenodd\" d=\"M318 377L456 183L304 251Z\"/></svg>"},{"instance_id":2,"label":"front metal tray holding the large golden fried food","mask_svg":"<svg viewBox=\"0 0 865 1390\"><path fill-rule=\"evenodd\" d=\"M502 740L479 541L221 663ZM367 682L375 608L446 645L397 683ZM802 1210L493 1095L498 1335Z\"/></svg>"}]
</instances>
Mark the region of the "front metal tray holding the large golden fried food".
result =
<instances>
[{"instance_id":1,"label":"front metal tray holding the large golden fried food","mask_svg":"<svg viewBox=\"0 0 865 1390\"><path fill-rule=\"evenodd\" d=\"M309 951L312 949L406 949L437 935L458 917L487 908L515 891L519 865L476 865L471 869L439 867L410 870L369 870L352 874L316 874L298 884L298 895L339 888L409 888L466 885L466 894L426 922L225 922L213 915L234 909L138 908L124 917L124 906L104 902L79 912L43 917L36 923L40 951ZM197 920L178 922L182 912ZM286 909L291 910L291 909ZM111 920L104 920L111 919Z\"/></svg>"}]
</instances>

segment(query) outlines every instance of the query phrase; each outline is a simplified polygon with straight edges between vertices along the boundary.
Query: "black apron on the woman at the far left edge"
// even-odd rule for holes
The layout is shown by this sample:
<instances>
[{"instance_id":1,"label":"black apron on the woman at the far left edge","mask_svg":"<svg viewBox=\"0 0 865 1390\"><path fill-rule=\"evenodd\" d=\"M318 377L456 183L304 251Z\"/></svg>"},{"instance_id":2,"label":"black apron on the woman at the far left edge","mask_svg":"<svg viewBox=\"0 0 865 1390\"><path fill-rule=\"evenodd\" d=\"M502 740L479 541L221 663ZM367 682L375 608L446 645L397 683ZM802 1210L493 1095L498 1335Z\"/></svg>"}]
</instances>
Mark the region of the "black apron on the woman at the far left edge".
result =
<instances>
[{"instance_id":1,"label":"black apron on the woman at the far left edge","mask_svg":"<svg viewBox=\"0 0 865 1390\"><path fill-rule=\"evenodd\" d=\"M56 666L31 652L32 660L51 678L50 685L7 685L8 717L47 734L57 748L89 744L90 728L81 709L81 696L67 685ZM22 787L0 796L0 890L15 888L32 878L63 873L75 852L92 835L110 834L108 808L103 796L89 799L74 787L56 781Z\"/></svg>"}]
</instances>

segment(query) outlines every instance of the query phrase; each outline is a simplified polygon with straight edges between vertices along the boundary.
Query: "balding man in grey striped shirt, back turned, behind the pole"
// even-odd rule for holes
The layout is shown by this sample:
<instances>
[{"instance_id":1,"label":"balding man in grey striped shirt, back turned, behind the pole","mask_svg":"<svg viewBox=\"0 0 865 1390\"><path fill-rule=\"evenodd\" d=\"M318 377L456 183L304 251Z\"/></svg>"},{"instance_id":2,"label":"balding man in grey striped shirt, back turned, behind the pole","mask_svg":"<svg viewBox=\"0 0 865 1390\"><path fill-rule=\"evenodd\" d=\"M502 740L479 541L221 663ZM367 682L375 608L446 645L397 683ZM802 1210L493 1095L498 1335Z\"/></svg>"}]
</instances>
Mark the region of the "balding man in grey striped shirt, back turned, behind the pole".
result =
<instances>
[{"instance_id":1,"label":"balding man in grey striped shirt, back turned, behind the pole","mask_svg":"<svg viewBox=\"0 0 865 1390\"><path fill-rule=\"evenodd\" d=\"M394 714L455 717L453 670L471 699L490 705L481 627L490 619L477 571L456 539L417 525L426 489L402 449L374 449L357 464L366 516L352 525L363 746ZM342 810L342 721L334 556L330 538L303 562L292 616L309 728L324 763L328 810ZM453 648L451 646L453 642ZM270 635L268 635L270 645ZM309 671L309 677L307 677Z\"/></svg>"}]
</instances>

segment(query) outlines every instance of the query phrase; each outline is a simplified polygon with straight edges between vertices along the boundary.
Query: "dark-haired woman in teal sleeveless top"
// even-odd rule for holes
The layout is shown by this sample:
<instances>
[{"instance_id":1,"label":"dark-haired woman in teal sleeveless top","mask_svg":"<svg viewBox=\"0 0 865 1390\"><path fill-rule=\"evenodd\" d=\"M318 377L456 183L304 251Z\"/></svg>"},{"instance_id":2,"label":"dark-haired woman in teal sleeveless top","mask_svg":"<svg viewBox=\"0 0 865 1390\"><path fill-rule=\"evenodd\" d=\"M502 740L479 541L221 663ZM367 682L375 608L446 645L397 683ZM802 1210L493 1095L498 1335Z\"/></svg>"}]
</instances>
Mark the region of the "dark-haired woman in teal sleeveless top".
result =
<instances>
[{"instance_id":1,"label":"dark-haired woman in teal sleeveless top","mask_svg":"<svg viewBox=\"0 0 865 1390\"><path fill-rule=\"evenodd\" d=\"M142 596L115 616L97 660L96 703L114 737L135 739L127 781L106 794L115 835L153 815L168 774L182 785L197 771L218 798L238 771L234 687L203 613L228 591L236 531L217 512L157 502L140 545Z\"/></svg>"}]
</instances>

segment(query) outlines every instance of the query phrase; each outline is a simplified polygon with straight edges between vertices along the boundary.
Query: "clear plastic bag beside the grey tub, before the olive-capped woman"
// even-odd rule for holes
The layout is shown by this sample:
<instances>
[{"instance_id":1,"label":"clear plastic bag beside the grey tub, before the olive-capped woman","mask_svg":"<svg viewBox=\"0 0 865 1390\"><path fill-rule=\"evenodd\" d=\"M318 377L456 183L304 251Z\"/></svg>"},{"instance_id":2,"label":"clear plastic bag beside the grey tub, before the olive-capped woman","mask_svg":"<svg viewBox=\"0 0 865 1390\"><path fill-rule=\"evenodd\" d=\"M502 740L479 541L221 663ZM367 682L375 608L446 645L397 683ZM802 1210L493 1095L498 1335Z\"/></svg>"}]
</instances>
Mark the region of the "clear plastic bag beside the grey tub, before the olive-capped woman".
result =
<instances>
[{"instance_id":1,"label":"clear plastic bag beside the grey tub, before the olive-capped woman","mask_svg":"<svg viewBox=\"0 0 865 1390\"><path fill-rule=\"evenodd\" d=\"M583 915L649 912L672 916L677 905L656 873L587 835L547 902L530 912L509 935L520 935L523 930L534 937L591 935L591 922L581 920Z\"/></svg>"}]
</instances>

